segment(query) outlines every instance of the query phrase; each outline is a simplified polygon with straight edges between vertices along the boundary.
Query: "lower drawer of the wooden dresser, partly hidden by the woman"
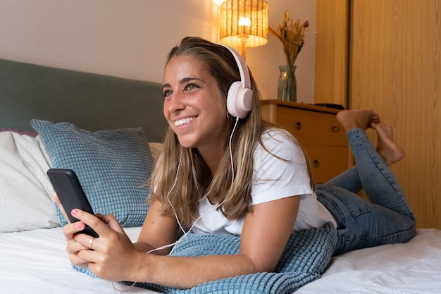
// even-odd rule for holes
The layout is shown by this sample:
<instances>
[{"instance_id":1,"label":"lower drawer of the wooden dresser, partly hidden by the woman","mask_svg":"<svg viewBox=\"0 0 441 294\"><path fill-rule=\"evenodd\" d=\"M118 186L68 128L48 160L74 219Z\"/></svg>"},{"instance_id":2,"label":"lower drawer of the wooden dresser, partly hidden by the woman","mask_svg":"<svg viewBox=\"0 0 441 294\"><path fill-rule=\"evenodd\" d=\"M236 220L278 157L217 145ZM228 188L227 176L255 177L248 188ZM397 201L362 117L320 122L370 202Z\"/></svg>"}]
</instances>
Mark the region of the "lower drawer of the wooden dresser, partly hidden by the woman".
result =
<instances>
[{"instance_id":1,"label":"lower drawer of the wooden dresser, partly hidden by the woman","mask_svg":"<svg viewBox=\"0 0 441 294\"><path fill-rule=\"evenodd\" d=\"M325 183L348 169L348 147L324 145L303 145L303 147L311 160L316 183Z\"/></svg>"}]
</instances>

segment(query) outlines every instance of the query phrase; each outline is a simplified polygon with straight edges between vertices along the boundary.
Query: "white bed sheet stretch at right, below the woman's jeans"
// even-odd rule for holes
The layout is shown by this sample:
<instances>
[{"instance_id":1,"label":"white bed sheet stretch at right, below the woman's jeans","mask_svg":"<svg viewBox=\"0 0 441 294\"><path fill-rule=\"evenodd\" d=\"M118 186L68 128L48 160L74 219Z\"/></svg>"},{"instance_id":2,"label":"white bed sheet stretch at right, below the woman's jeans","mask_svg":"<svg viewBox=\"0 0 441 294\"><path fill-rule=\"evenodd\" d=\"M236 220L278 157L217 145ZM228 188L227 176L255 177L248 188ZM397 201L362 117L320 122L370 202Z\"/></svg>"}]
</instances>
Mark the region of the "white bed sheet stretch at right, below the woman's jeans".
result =
<instances>
[{"instance_id":1,"label":"white bed sheet stretch at right, below the woman's jeans","mask_svg":"<svg viewBox=\"0 0 441 294\"><path fill-rule=\"evenodd\" d=\"M409 243L355 250L331 259L296 294L441 293L441 231L418 229Z\"/></svg>"}]
</instances>

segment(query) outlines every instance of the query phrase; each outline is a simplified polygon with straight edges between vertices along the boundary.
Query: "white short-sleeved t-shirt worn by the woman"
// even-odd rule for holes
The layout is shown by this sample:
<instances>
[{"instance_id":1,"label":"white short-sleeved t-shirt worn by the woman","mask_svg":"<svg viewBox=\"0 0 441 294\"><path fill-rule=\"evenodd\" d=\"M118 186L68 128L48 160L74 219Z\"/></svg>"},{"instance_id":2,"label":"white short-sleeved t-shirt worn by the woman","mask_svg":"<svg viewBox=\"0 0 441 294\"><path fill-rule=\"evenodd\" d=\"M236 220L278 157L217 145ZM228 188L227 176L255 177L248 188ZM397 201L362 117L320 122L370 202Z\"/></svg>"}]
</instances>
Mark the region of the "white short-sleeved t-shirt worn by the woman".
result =
<instances>
[{"instance_id":1,"label":"white short-sleeved t-shirt worn by the woman","mask_svg":"<svg viewBox=\"0 0 441 294\"><path fill-rule=\"evenodd\" d=\"M328 222L337 226L328 209L317 201L316 193L311 190L306 159L302 149L290 137L290 133L279 129L269 130L262 135L263 145L271 154L262 145L256 147L251 204L297 195L301 198L293 231L319 228ZM194 223L194 233L241 235L245 217L229 221L216 207L207 199L199 203L201 217Z\"/></svg>"}]
</instances>

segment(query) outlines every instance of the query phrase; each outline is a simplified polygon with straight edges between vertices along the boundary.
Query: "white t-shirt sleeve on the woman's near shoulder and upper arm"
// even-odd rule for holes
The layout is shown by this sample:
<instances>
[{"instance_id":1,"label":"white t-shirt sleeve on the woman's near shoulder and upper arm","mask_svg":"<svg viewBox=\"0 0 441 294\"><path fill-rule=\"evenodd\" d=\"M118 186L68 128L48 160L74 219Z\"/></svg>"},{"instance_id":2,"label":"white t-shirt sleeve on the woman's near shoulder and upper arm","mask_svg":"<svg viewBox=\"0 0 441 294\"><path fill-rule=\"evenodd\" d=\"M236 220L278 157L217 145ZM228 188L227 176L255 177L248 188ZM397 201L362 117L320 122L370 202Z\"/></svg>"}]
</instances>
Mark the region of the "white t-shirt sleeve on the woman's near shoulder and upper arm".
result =
<instances>
[{"instance_id":1,"label":"white t-shirt sleeve on the woman's near shoulder and upper arm","mask_svg":"<svg viewBox=\"0 0 441 294\"><path fill-rule=\"evenodd\" d=\"M252 204L301 195L310 197L306 159L302 148L285 130L268 130L262 137L263 146L254 152Z\"/></svg>"}]
</instances>

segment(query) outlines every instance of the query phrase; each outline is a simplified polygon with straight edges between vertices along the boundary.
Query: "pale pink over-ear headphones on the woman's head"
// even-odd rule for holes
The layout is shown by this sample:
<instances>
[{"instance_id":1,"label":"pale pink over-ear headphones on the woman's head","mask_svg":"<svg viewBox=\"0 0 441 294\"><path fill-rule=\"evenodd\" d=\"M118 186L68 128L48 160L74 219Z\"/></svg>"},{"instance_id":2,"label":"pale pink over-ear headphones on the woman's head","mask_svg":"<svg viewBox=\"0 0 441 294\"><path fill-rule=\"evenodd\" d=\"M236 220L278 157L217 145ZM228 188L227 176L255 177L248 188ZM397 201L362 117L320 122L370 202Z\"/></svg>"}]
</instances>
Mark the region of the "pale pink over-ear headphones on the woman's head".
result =
<instances>
[{"instance_id":1,"label":"pale pink over-ear headphones on the woman's head","mask_svg":"<svg viewBox=\"0 0 441 294\"><path fill-rule=\"evenodd\" d=\"M240 72L240 81L233 82L228 90L228 113L237 118L245 118L253 106L253 90L251 90L251 78L249 77L247 63L235 49L223 44L220 45L230 50Z\"/></svg>"}]
</instances>

